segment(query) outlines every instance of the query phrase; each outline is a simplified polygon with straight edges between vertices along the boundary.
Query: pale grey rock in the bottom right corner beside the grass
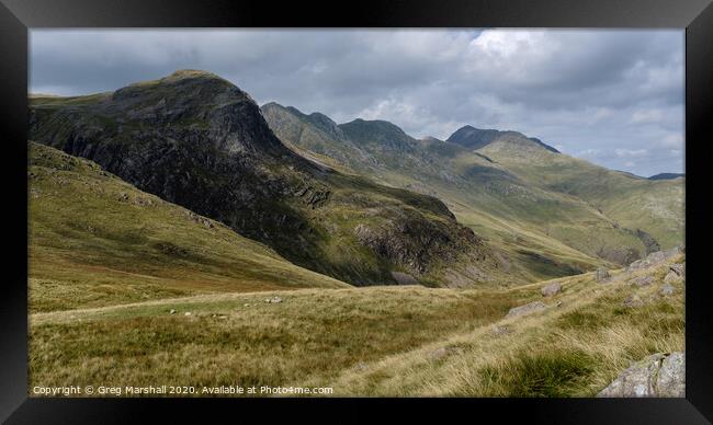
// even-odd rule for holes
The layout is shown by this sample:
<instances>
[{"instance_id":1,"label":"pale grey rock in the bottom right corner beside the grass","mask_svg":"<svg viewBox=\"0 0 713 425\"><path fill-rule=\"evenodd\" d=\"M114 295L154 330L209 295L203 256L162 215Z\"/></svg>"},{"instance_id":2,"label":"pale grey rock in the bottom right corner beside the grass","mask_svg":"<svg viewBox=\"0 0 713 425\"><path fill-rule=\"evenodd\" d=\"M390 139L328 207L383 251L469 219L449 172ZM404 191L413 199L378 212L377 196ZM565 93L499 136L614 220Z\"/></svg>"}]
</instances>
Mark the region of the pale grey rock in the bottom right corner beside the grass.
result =
<instances>
[{"instance_id":1,"label":"pale grey rock in the bottom right corner beside the grass","mask_svg":"<svg viewBox=\"0 0 713 425\"><path fill-rule=\"evenodd\" d=\"M656 353L637 361L597 397L686 397L686 354Z\"/></svg>"}]
</instances>

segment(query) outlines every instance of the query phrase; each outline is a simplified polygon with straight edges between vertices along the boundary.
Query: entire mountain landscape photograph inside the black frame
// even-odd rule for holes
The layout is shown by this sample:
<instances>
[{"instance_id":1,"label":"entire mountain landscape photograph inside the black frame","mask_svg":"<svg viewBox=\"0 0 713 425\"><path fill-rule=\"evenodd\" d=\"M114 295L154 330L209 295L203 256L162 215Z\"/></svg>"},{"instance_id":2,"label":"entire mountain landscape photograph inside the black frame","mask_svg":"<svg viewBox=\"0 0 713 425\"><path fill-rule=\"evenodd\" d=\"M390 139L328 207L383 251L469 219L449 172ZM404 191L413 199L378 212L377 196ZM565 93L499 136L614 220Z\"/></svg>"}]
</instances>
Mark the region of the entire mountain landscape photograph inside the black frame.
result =
<instances>
[{"instance_id":1,"label":"entire mountain landscape photograph inside the black frame","mask_svg":"<svg viewBox=\"0 0 713 425\"><path fill-rule=\"evenodd\" d=\"M30 397L686 395L680 30L32 30Z\"/></svg>"}]
</instances>

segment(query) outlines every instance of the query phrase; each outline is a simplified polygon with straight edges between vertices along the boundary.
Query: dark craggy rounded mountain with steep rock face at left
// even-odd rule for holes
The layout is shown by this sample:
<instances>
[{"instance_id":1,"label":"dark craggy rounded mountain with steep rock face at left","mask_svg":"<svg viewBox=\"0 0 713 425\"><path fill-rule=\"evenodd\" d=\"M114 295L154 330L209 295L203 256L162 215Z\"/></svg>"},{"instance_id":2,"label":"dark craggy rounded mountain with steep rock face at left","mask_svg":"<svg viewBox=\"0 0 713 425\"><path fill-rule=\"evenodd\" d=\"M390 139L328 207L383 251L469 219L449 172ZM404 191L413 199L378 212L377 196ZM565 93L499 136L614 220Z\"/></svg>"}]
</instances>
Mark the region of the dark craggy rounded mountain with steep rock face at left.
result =
<instances>
[{"instance_id":1,"label":"dark craggy rounded mountain with steep rock face at left","mask_svg":"<svg viewBox=\"0 0 713 425\"><path fill-rule=\"evenodd\" d=\"M392 272L405 271L439 285L441 271L487 259L440 200L307 161L273 135L247 93L207 72L34 99L30 138L352 284L394 283Z\"/></svg>"}]
</instances>

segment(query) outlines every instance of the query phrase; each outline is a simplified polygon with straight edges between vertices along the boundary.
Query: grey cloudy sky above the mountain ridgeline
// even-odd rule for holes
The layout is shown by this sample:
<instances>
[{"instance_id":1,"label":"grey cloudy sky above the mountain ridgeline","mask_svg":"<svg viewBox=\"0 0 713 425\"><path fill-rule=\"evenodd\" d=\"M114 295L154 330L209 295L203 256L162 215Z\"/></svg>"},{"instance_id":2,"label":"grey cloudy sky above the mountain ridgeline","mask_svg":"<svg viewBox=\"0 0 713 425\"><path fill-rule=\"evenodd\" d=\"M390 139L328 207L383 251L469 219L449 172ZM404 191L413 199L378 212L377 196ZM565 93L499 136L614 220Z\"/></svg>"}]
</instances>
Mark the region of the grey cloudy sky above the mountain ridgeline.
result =
<instances>
[{"instance_id":1,"label":"grey cloudy sky above the mountain ridgeline","mask_svg":"<svg viewBox=\"0 0 713 425\"><path fill-rule=\"evenodd\" d=\"M260 104L415 137L513 129L638 175L683 171L682 31L33 30L31 92L215 72Z\"/></svg>"}]
</instances>

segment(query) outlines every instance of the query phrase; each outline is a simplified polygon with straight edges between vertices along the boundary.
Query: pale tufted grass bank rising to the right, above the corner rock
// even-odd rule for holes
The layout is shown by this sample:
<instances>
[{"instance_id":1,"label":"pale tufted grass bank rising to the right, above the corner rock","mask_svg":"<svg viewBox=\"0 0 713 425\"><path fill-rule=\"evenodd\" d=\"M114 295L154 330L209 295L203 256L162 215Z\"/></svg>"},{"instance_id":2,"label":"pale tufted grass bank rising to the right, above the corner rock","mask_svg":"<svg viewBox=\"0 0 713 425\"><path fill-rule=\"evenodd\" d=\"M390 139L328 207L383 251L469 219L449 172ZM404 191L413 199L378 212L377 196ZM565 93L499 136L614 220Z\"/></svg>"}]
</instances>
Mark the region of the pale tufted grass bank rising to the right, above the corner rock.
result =
<instances>
[{"instance_id":1,"label":"pale tufted grass bank rising to the right, above the corner rock","mask_svg":"<svg viewBox=\"0 0 713 425\"><path fill-rule=\"evenodd\" d=\"M344 370L330 383L337 394L593 397L632 361L684 349L684 283L672 284L672 296L660 292L671 263L620 271L609 283L587 274L510 290L546 308ZM632 284L643 276L653 284ZM534 294L550 283L563 291ZM627 306L632 297L641 303Z\"/></svg>"}]
</instances>

